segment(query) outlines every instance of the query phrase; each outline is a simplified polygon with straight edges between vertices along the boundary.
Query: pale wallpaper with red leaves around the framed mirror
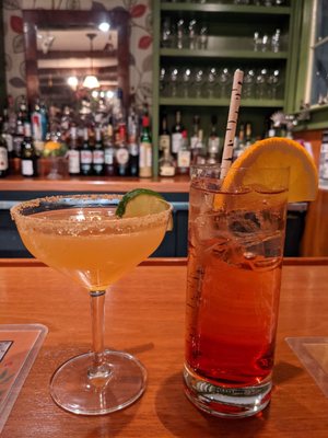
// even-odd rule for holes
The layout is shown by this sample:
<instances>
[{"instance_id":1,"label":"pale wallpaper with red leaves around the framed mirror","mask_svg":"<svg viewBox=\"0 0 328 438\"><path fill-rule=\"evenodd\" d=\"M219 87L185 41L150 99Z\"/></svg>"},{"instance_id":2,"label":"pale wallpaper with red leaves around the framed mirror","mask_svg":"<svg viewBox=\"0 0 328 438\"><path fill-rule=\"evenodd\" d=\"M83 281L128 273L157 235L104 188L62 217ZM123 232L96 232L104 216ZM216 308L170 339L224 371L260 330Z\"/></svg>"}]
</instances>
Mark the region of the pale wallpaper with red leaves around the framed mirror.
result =
<instances>
[{"instance_id":1,"label":"pale wallpaper with red leaves around the framed mirror","mask_svg":"<svg viewBox=\"0 0 328 438\"><path fill-rule=\"evenodd\" d=\"M7 92L14 99L26 92L23 9L112 10L130 14L130 93L137 105L151 104L152 12L151 0L3 0Z\"/></svg>"}]
</instances>

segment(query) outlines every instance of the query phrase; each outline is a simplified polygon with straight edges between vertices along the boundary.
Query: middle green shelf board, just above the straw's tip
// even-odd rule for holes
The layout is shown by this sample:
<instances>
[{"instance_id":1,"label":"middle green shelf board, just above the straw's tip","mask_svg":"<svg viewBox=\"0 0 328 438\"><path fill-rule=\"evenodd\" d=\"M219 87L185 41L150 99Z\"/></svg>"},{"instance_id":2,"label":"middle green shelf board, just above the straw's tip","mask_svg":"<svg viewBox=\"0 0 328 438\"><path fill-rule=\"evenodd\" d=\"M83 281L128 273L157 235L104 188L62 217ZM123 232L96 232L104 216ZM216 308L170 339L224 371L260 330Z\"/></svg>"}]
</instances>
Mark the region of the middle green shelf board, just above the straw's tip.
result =
<instances>
[{"instance_id":1,"label":"middle green shelf board, just above the straw's tip","mask_svg":"<svg viewBox=\"0 0 328 438\"><path fill-rule=\"evenodd\" d=\"M172 58L236 58L236 59L286 59L286 51L254 51L236 49L189 49L189 48L161 48L161 57Z\"/></svg>"}]
</instances>

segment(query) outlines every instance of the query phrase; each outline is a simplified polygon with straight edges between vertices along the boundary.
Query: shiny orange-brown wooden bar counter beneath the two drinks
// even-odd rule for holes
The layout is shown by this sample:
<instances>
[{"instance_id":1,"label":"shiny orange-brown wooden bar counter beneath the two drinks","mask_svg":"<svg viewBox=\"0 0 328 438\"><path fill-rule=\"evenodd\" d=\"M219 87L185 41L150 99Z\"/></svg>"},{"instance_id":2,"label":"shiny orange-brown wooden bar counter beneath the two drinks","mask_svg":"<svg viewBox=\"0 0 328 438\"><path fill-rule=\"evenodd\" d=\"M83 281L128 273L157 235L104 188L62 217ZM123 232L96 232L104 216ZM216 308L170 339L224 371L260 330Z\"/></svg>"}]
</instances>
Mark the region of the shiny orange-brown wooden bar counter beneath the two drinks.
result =
<instances>
[{"instance_id":1,"label":"shiny orange-brown wooden bar counter beneath the two drinks","mask_svg":"<svg viewBox=\"0 0 328 438\"><path fill-rule=\"evenodd\" d=\"M286 261L272 402L256 417L229 420L202 414L184 395L184 261L148 262L107 293L106 346L134 354L149 381L132 406L98 417L62 411L48 391L52 371L90 348L87 293L35 261L0 261L1 324L40 323L49 330L1 438L327 438L328 399L285 342L328 336L327 265Z\"/></svg>"}]
</instances>

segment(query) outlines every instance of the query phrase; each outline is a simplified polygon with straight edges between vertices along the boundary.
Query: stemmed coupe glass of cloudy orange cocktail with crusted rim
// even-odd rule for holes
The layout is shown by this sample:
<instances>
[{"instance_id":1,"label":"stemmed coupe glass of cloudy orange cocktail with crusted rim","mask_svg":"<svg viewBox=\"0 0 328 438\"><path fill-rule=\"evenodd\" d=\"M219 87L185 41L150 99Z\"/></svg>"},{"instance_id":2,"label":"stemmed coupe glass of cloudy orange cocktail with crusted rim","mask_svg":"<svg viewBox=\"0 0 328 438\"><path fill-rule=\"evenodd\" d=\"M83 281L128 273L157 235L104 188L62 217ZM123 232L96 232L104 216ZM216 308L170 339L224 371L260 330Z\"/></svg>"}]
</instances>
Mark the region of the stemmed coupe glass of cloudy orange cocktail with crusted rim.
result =
<instances>
[{"instance_id":1,"label":"stemmed coupe glass of cloudy orange cocktail with crusted rim","mask_svg":"<svg viewBox=\"0 0 328 438\"><path fill-rule=\"evenodd\" d=\"M90 291L92 351L68 360L54 373L50 393L65 410L107 414L133 403L147 372L133 356L104 348L106 289L161 243L171 217L162 212L118 218L119 195L54 196L11 210L27 250Z\"/></svg>"}]
</instances>

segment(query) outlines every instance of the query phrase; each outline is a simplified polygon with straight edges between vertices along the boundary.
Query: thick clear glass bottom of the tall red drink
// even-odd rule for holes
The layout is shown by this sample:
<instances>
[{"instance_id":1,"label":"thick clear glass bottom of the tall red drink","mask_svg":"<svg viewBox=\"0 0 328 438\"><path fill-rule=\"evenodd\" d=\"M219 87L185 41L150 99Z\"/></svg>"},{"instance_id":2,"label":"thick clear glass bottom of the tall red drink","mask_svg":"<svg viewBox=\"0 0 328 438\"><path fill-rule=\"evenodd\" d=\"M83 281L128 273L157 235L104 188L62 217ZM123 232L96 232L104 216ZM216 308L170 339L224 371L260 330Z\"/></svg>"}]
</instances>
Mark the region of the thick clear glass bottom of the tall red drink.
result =
<instances>
[{"instance_id":1,"label":"thick clear glass bottom of the tall red drink","mask_svg":"<svg viewBox=\"0 0 328 438\"><path fill-rule=\"evenodd\" d=\"M185 393L201 411L219 417L248 417L262 411L271 399L271 380L253 387L219 387L185 366Z\"/></svg>"}]
</instances>

